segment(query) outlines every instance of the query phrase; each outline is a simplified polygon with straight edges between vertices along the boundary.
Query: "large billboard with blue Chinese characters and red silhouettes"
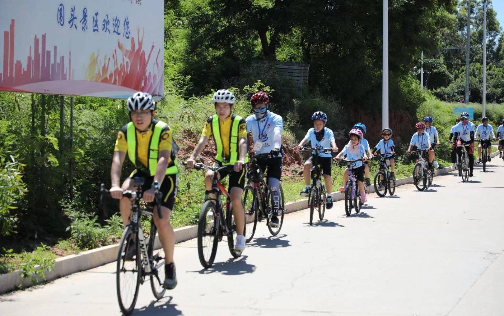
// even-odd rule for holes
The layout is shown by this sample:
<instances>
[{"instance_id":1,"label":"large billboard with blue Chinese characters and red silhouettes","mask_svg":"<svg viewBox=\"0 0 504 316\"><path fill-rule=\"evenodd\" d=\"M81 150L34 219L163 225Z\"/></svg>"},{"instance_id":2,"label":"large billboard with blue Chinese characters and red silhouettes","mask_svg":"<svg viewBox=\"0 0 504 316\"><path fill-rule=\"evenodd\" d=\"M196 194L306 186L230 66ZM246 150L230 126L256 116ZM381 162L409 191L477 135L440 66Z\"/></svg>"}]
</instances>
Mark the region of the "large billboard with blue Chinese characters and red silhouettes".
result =
<instances>
[{"instance_id":1,"label":"large billboard with blue Chinese characters and red silhouettes","mask_svg":"<svg viewBox=\"0 0 504 316\"><path fill-rule=\"evenodd\" d=\"M163 97L162 0L4 1L0 90Z\"/></svg>"}]
</instances>

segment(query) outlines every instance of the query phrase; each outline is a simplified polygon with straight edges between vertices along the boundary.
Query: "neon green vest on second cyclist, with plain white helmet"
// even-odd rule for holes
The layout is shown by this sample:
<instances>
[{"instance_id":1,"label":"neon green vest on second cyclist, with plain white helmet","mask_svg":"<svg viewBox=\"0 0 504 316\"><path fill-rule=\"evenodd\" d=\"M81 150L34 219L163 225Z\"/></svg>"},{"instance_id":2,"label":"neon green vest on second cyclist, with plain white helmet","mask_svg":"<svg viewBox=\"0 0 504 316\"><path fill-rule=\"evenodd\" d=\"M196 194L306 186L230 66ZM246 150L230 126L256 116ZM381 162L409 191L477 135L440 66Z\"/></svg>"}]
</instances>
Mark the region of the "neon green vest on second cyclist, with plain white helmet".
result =
<instances>
[{"instance_id":1,"label":"neon green vest on second cyclist, with plain white helmet","mask_svg":"<svg viewBox=\"0 0 504 316\"><path fill-rule=\"evenodd\" d=\"M212 135L214 135L215 146L217 147L217 155L215 160L222 165L234 165L239 159L239 146L238 146L238 126L243 118L239 115L231 116L231 129L229 131L229 157L224 155L224 145L222 144L222 138L219 126L219 116L214 114L212 117ZM248 155L245 156L245 163L248 163Z\"/></svg>"}]
</instances>

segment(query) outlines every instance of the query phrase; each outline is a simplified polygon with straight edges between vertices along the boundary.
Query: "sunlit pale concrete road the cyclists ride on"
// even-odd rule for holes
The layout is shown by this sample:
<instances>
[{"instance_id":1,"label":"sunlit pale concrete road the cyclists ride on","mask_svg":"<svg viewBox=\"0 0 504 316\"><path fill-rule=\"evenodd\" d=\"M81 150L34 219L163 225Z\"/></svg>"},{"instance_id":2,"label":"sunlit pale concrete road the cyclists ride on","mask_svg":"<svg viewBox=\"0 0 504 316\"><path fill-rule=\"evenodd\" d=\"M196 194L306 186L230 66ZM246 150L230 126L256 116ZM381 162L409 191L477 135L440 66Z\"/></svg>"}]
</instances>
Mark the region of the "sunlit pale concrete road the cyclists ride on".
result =
<instances>
[{"instance_id":1,"label":"sunlit pale concrete road the cyclists ride on","mask_svg":"<svg viewBox=\"0 0 504 316\"><path fill-rule=\"evenodd\" d=\"M175 249L179 284L154 301L140 287L137 315L504 315L504 164L462 183L436 177L419 192L371 194L360 214L342 201L310 226L285 216L280 235L260 223L244 256L219 244L203 270L196 240ZM338 193L339 194L339 193ZM1 315L119 315L115 263L0 296Z\"/></svg>"}]
</instances>

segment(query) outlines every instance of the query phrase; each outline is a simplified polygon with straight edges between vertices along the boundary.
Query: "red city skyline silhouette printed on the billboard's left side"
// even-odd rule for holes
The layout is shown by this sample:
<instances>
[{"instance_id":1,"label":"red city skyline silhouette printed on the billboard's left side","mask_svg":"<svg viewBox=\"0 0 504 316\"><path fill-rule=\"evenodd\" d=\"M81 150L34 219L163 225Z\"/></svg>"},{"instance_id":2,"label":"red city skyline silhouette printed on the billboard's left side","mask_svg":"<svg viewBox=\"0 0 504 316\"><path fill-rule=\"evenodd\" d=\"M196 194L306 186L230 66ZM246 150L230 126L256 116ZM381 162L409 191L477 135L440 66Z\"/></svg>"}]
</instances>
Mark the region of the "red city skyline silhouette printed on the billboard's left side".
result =
<instances>
[{"instance_id":1,"label":"red city skyline silhouette printed on the billboard's left side","mask_svg":"<svg viewBox=\"0 0 504 316\"><path fill-rule=\"evenodd\" d=\"M51 51L46 50L46 34L42 34L41 37L40 43L40 38L35 35L33 56L32 46L30 46L25 67L21 60L16 60L14 63L15 20L11 19L10 30L4 31L4 67L3 72L0 73L1 86L16 87L43 81L71 80L68 73L72 74L72 78L75 76L75 70L72 69L72 50L69 50L69 65L65 68L65 55L58 58L58 48L54 45L51 63Z\"/></svg>"}]
</instances>

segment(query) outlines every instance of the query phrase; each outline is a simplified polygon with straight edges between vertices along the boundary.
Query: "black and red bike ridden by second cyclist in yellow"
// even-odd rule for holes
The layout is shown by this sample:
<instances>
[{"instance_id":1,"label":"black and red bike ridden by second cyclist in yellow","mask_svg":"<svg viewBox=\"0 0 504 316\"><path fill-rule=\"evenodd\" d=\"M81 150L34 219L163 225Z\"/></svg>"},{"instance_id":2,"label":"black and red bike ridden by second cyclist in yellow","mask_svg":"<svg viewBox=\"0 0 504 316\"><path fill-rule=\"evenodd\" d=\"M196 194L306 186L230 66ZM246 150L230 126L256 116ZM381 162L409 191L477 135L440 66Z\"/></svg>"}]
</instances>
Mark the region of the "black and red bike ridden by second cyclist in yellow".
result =
<instances>
[{"instance_id":1,"label":"black and red bike ridden by second cyclist in yellow","mask_svg":"<svg viewBox=\"0 0 504 316\"><path fill-rule=\"evenodd\" d=\"M183 165L186 166L186 163L184 162ZM227 246L231 256L234 258L241 256L241 251L234 251L236 223L233 216L231 196L220 183L217 176L220 171L230 172L233 168L233 165L213 167L201 163L194 166L196 170L211 170L214 172L212 189L205 191L205 202L201 207L200 218L198 220L198 257L205 269L213 265L215 255L217 254L217 243L222 241L223 236L227 236ZM211 198L210 194L215 194L215 198ZM222 194L226 197L225 213L221 200ZM246 226L243 224L243 234L246 233L245 228Z\"/></svg>"}]
</instances>

